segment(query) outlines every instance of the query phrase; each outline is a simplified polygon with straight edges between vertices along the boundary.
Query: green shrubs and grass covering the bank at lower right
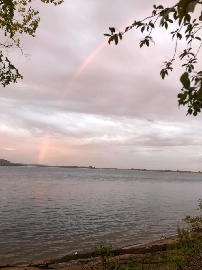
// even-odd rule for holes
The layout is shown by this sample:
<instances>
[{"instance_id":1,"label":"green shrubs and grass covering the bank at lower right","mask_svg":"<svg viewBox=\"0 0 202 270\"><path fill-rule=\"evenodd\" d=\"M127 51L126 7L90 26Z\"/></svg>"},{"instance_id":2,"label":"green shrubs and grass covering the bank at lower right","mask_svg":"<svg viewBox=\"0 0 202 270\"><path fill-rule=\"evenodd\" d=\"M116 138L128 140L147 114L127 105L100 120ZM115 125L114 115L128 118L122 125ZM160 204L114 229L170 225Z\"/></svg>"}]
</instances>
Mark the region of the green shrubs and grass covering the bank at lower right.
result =
<instances>
[{"instance_id":1,"label":"green shrubs and grass covering the bank at lower right","mask_svg":"<svg viewBox=\"0 0 202 270\"><path fill-rule=\"evenodd\" d=\"M199 208L202 212L202 199L199 199ZM114 256L113 245L104 246L101 241L94 251L98 252L101 261L93 262L83 269L102 270L132 270L132 269L202 269L202 216L186 216L184 218L189 229L177 228L176 243L168 244L166 251L145 254L135 254L127 257Z\"/></svg>"}]
</instances>

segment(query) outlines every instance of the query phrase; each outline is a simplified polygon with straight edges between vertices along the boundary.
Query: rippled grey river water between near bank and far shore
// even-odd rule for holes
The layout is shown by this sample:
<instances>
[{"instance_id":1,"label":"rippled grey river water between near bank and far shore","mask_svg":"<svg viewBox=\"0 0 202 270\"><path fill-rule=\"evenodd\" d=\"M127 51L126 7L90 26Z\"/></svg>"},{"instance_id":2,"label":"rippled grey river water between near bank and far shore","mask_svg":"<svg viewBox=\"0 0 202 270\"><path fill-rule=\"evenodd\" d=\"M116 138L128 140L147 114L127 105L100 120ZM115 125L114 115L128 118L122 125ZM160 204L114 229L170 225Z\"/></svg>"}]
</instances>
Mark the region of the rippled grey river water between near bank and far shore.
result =
<instances>
[{"instance_id":1,"label":"rippled grey river water between near bank and far shore","mask_svg":"<svg viewBox=\"0 0 202 270\"><path fill-rule=\"evenodd\" d=\"M0 166L0 264L175 234L201 194L201 174Z\"/></svg>"}]
</instances>

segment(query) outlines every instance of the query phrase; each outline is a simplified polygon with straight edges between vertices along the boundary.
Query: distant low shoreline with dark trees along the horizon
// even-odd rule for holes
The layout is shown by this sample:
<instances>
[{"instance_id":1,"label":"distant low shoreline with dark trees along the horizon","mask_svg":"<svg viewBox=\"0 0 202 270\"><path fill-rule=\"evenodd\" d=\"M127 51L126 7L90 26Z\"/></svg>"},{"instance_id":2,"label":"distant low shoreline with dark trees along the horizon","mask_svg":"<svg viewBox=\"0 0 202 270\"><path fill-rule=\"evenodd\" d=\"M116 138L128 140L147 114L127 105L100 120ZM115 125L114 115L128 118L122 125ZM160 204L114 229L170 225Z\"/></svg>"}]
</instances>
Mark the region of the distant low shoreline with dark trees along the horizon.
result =
<instances>
[{"instance_id":1,"label":"distant low shoreline with dark trees along the horizon","mask_svg":"<svg viewBox=\"0 0 202 270\"><path fill-rule=\"evenodd\" d=\"M130 171L146 171L146 172L181 172L181 173L202 173L181 170L150 170L150 169L121 169L121 168L96 168L92 166L70 166L70 165L43 165L43 164L29 164L29 163L12 163L6 159L0 159L0 166L32 166L32 167L56 167L56 168L78 168L78 169L101 169L101 170L130 170Z\"/></svg>"}]
</instances>

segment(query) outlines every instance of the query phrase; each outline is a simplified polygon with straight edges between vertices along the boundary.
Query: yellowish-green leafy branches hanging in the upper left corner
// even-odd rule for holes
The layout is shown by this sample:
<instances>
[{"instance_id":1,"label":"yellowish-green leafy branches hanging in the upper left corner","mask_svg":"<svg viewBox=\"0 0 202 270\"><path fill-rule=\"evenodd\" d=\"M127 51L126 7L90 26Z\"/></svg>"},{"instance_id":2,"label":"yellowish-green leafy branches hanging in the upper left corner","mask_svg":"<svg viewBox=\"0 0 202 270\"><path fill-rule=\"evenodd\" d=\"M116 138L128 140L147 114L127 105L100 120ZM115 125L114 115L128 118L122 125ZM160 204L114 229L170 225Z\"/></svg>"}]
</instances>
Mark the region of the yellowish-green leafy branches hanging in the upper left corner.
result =
<instances>
[{"instance_id":1,"label":"yellowish-green leafy branches hanging in the upper left corner","mask_svg":"<svg viewBox=\"0 0 202 270\"><path fill-rule=\"evenodd\" d=\"M41 0L43 3L60 5L63 0ZM23 78L18 69L10 62L6 55L10 49L20 49L21 55L28 60L27 54L23 52L19 36L28 34L35 37L40 17L39 11L32 8L32 0L5 0L0 2L0 28L3 36L0 41L0 82L3 87L10 82L17 82ZM3 40L4 39L4 40ZM4 52L4 54L3 54Z\"/></svg>"}]
</instances>

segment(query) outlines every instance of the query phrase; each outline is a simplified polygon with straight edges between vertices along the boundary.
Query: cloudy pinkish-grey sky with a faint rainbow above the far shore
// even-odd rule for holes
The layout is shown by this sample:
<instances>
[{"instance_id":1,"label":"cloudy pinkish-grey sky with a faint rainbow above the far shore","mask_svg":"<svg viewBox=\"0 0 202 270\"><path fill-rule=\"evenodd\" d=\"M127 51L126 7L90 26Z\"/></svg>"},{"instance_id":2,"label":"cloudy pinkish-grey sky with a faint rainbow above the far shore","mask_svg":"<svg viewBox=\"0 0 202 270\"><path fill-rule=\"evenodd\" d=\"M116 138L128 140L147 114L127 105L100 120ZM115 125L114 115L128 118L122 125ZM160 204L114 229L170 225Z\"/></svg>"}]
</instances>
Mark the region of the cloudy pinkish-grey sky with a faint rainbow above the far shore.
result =
<instances>
[{"instance_id":1,"label":"cloudy pinkish-grey sky with a faint rainbow above the far shore","mask_svg":"<svg viewBox=\"0 0 202 270\"><path fill-rule=\"evenodd\" d=\"M41 18L36 37L21 37L30 61L18 50L9 54L23 80L1 87L1 159L202 171L202 114L186 116L186 108L178 108L179 58L160 78L174 52L172 27L156 29L155 45L141 49L140 31L129 31L117 46L103 35L149 16L151 1L34 4ZM184 47L182 40L178 53Z\"/></svg>"}]
</instances>

